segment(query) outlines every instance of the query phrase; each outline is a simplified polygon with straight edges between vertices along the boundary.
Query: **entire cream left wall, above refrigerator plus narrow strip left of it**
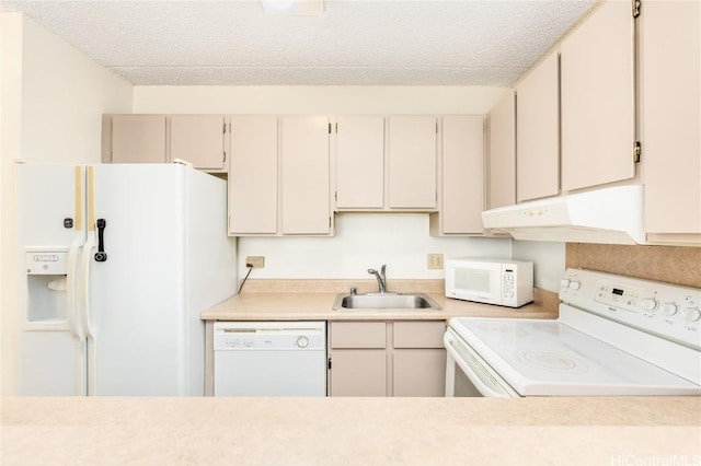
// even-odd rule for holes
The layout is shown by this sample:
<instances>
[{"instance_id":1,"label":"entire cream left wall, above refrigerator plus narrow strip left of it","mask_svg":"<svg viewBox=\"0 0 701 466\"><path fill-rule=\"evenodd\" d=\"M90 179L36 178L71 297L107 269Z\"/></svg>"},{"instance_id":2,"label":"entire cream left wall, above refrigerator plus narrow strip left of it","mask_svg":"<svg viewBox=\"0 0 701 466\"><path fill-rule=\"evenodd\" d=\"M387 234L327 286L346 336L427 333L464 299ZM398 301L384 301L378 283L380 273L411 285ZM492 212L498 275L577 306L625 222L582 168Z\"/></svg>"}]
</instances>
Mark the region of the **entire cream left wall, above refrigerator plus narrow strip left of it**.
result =
<instances>
[{"instance_id":1,"label":"entire cream left wall, above refrigerator plus narrow strip left of it","mask_svg":"<svg viewBox=\"0 0 701 466\"><path fill-rule=\"evenodd\" d=\"M14 394L14 161L100 162L102 114L131 112L131 85L21 13L0 13L2 395Z\"/></svg>"}]
</instances>

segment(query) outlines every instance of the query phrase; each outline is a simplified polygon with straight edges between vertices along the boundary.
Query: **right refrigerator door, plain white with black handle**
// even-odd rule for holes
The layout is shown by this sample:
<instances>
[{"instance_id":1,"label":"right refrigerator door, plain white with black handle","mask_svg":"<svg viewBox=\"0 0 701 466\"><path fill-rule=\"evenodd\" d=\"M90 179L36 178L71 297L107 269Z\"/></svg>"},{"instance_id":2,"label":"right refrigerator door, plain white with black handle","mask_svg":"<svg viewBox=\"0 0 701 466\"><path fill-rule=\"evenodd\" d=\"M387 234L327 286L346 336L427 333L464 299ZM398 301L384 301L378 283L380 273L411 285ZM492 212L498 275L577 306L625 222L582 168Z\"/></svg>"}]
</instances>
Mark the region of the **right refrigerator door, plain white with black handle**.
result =
<instances>
[{"instance_id":1,"label":"right refrigerator door, plain white with black handle","mask_svg":"<svg viewBox=\"0 0 701 466\"><path fill-rule=\"evenodd\" d=\"M95 165L88 179L89 395L184 395L184 167Z\"/></svg>"}]
</instances>

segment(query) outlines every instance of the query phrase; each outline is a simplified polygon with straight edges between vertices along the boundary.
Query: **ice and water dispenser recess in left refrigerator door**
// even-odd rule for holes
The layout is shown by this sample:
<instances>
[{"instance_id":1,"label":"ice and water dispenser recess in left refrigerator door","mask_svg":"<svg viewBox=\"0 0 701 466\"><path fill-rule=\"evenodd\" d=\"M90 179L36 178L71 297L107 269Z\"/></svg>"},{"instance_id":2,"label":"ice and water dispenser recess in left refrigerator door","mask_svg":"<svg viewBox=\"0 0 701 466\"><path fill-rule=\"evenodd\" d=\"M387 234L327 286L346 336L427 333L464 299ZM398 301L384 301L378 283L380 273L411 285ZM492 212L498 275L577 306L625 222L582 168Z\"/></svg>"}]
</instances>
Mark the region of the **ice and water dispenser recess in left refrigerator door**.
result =
<instances>
[{"instance_id":1,"label":"ice and water dispenser recess in left refrigerator door","mask_svg":"<svg viewBox=\"0 0 701 466\"><path fill-rule=\"evenodd\" d=\"M67 319L68 251L26 251L27 322Z\"/></svg>"}]
</instances>

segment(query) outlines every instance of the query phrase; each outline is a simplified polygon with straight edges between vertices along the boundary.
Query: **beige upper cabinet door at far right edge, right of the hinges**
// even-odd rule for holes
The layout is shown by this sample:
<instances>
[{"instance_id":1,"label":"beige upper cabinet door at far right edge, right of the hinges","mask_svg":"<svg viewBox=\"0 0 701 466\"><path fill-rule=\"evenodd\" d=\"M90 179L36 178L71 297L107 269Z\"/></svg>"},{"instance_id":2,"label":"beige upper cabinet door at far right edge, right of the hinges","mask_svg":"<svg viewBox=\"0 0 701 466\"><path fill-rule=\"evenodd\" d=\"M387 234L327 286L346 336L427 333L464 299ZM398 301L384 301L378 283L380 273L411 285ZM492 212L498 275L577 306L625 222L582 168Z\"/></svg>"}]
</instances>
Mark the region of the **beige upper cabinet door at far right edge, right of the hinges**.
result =
<instances>
[{"instance_id":1,"label":"beige upper cabinet door at far right edge, right of the hinges","mask_svg":"<svg viewBox=\"0 0 701 466\"><path fill-rule=\"evenodd\" d=\"M648 233L701 233L700 10L698 1L655 1L641 13Z\"/></svg>"}]
</instances>

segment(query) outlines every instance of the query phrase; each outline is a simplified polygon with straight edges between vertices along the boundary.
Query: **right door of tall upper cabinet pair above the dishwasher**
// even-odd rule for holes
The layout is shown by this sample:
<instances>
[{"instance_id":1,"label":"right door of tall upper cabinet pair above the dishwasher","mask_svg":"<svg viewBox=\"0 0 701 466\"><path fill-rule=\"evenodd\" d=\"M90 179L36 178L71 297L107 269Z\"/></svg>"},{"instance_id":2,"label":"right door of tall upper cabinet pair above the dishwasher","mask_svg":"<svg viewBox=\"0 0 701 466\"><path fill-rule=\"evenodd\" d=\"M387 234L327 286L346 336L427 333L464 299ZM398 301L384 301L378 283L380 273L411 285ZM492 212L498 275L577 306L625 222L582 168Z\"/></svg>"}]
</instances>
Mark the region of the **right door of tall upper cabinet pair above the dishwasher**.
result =
<instances>
[{"instance_id":1,"label":"right door of tall upper cabinet pair above the dishwasher","mask_svg":"<svg viewBox=\"0 0 701 466\"><path fill-rule=\"evenodd\" d=\"M329 234L329 118L281 117L283 233Z\"/></svg>"}]
</instances>

